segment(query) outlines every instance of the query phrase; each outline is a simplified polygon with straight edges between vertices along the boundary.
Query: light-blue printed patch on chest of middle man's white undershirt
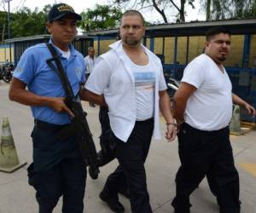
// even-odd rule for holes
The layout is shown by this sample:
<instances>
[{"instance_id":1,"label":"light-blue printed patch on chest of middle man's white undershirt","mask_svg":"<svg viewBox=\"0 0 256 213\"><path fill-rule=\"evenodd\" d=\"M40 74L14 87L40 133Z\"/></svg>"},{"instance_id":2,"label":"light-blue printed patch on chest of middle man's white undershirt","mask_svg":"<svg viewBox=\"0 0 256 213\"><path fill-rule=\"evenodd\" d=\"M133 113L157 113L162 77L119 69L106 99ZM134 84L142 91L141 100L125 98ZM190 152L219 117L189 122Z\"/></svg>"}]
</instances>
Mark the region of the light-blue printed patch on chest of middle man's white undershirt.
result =
<instances>
[{"instance_id":1,"label":"light-blue printed patch on chest of middle man's white undershirt","mask_svg":"<svg viewBox=\"0 0 256 213\"><path fill-rule=\"evenodd\" d=\"M134 72L134 79L137 89L153 89L155 72Z\"/></svg>"}]
</instances>

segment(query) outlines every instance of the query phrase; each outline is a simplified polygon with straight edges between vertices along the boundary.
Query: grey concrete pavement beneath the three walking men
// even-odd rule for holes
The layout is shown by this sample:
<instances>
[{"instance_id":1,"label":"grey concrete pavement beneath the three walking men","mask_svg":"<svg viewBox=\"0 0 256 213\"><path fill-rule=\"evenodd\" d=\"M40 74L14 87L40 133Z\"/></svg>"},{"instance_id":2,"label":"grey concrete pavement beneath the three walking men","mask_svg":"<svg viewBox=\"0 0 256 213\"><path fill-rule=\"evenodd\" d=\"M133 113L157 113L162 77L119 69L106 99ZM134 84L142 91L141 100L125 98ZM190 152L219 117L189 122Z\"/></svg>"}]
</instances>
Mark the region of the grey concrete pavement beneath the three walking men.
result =
<instances>
[{"instance_id":1,"label":"grey concrete pavement beneath the three walking men","mask_svg":"<svg viewBox=\"0 0 256 213\"><path fill-rule=\"evenodd\" d=\"M29 107L11 102L8 99L9 84L0 83L0 122L8 116L15 145L20 160L32 162L32 115ZM98 146L100 126L98 122L98 107L89 107L84 102L84 109L88 112L90 129ZM161 122L162 132L165 124ZM2 130L0 130L1 134ZM236 160L236 168L241 180L241 212L256 213L256 131L246 135L232 136L231 142ZM27 165L28 165L27 164ZM0 213L36 213L38 204L34 198L35 191L27 184L27 165L14 173L0 172ZM116 160L101 169L99 178L94 181L87 178L86 196L84 198L86 213L111 213L108 206L98 198L104 181L108 174L117 165ZM179 166L177 155L177 141L168 143L165 140L152 141L152 146L146 162L148 192L154 213L172 213L171 200L175 195L175 174ZM125 212L131 213L129 201L120 196L120 201L125 205ZM218 204L207 186L207 181L202 181L198 189L191 195L191 213L218 213ZM61 200L54 210L61 212Z\"/></svg>"}]
</instances>

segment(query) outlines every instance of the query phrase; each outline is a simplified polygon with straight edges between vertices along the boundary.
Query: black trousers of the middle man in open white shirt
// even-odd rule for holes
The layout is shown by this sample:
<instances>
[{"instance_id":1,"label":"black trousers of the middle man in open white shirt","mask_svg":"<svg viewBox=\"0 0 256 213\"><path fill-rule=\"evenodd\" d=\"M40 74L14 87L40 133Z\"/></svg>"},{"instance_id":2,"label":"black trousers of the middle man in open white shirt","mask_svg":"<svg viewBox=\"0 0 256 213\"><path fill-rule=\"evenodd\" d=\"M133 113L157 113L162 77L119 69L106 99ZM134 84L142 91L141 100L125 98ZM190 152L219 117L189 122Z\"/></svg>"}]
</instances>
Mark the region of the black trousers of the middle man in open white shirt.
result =
<instances>
[{"instance_id":1,"label":"black trousers of the middle man in open white shirt","mask_svg":"<svg viewBox=\"0 0 256 213\"><path fill-rule=\"evenodd\" d=\"M144 168L148 156L154 120L137 121L128 141L116 141L117 169L108 176L103 188L112 199L118 199L118 188L127 183L130 190L131 211L133 213L151 213Z\"/></svg>"}]
</instances>

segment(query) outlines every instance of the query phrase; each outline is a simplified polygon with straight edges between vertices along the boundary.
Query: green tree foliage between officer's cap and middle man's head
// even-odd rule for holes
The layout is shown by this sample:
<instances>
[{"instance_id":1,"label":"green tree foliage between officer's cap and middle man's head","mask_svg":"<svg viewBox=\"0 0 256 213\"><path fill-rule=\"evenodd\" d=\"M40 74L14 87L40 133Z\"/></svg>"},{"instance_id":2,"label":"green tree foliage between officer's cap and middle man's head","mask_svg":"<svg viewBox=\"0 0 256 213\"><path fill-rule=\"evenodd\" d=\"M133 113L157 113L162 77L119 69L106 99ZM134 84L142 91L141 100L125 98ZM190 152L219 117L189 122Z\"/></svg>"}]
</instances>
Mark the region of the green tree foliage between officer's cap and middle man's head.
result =
<instances>
[{"instance_id":1,"label":"green tree foliage between officer's cap and middle man's head","mask_svg":"<svg viewBox=\"0 0 256 213\"><path fill-rule=\"evenodd\" d=\"M111 29L119 25L122 12L117 7L96 4L95 9L87 9L81 13L79 27L84 31Z\"/></svg>"}]
</instances>

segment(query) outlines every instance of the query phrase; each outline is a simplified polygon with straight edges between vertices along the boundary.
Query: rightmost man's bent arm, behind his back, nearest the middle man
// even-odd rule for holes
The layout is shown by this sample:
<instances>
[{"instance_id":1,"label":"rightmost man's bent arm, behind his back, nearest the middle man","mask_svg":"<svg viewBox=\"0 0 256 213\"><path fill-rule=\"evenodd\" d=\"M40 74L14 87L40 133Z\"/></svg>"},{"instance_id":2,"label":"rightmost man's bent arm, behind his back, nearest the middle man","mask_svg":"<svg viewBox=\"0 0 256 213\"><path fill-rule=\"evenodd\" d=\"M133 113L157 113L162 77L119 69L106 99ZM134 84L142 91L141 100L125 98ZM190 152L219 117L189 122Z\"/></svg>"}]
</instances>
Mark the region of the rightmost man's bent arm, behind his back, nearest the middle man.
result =
<instances>
[{"instance_id":1,"label":"rightmost man's bent arm, behind his back, nearest the middle man","mask_svg":"<svg viewBox=\"0 0 256 213\"><path fill-rule=\"evenodd\" d=\"M187 106L187 101L195 90L195 86L189 83L180 83L180 86L174 95L174 118L177 120L177 125L183 123L183 116Z\"/></svg>"}]
</instances>

